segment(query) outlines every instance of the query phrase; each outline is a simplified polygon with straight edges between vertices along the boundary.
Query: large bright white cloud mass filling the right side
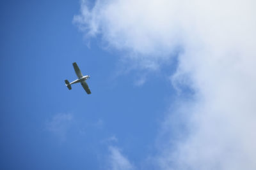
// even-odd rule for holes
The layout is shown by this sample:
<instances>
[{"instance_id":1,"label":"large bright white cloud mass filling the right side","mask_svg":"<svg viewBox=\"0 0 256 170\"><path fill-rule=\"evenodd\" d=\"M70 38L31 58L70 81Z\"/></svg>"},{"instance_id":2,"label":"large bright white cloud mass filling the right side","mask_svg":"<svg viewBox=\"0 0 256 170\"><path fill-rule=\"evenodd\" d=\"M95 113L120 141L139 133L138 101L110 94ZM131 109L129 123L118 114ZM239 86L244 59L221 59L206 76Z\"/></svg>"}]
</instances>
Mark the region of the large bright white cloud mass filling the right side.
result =
<instances>
[{"instance_id":1,"label":"large bright white cloud mass filling the right side","mask_svg":"<svg viewBox=\"0 0 256 170\"><path fill-rule=\"evenodd\" d=\"M255 6L250 0L109 0L89 9L83 1L74 18L81 29L141 67L159 66L179 51L172 83L189 86L195 96L170 111L170 117L185 115L180 121L189 136L180 141L168 134L172 146L157 159L162 169L256 169Z\"/></svg>"}]
</instances>

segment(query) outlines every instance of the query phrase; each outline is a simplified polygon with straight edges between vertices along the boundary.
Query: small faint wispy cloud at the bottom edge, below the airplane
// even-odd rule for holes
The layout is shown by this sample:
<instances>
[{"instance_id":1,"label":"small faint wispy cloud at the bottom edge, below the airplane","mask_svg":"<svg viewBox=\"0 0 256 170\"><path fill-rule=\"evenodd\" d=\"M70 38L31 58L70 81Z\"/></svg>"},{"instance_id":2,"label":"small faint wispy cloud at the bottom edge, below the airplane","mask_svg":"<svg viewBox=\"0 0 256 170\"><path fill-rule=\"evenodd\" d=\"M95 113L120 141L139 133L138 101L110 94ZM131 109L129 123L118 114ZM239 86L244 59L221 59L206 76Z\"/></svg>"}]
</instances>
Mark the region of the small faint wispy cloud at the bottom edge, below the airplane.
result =
<instances>
[{"instance_id":1,"label":"small faint wispy cloud at the bottom edge, below the airplane","mask_svg":"<svg viewBox=\"0 0 256 170\"><path fill-rule=\"evenodd\" d=\"M120 149L114 146L109 146L110 155L108 157L108 166L111 170L132 170L134 166L121 153Z\"/></svg>"}]
</instances>

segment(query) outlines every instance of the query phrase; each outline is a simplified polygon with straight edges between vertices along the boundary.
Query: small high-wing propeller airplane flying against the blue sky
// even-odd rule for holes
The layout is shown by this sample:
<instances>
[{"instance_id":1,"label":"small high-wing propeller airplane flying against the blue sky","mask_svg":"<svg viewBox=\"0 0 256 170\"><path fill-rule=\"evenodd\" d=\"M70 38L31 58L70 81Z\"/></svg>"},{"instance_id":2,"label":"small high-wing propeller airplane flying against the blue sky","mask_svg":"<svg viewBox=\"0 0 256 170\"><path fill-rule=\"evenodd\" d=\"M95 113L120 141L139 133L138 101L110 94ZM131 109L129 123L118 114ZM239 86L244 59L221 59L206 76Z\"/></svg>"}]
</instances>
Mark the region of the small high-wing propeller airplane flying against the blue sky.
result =
<instances>
[{"instance_id":1,"label":"small high-wing propeller airplane flying against the blue sky","mask_svg":"<svg viewBox=\"0 0 256 170\"><path fill-rule=\"evenodd\" d=\"M83 74L81 73L79 67L77 66L76 62L73 63L73 67L76 71L76 75L77 75L77 80L75 81L72 81L71 83L69 83L68 80L65 80L65 84L67 86L67 88L69 90L71 90L71 85L72 84L75 84L75 83L81 83L81 85L83 86L84 90L86 91L87 94L91 94L91 90L89 89L87 83L85 80L87 80L88 78L90 78L90 76L86 75L86 76L83 76Z\"/></svg>"}]
</instances>

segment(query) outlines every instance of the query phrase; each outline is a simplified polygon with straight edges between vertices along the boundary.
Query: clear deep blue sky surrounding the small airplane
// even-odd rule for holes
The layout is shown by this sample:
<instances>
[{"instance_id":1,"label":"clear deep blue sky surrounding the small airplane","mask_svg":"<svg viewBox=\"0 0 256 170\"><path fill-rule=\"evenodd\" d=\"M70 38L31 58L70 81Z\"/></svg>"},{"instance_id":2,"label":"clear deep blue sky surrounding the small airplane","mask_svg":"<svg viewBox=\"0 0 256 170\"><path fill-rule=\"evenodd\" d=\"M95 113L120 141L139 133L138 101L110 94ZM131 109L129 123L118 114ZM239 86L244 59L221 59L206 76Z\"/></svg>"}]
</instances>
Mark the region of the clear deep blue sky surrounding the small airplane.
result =
<instances>
[{"instance_id":1,"label":"clear deep blue sky surrounding the small airplane","mask_svg":"<svg viewBox=\"0 0 256 170\"><path fill-rule=\"evenodd\" d=\"M122 52L104 50L97 38L86 46L72 24L79 8L79 1L1 2L1 169L104 169L109 145L135 163L156 152L173 69L136 85L147 73L123 73L130 66ZM92 95L65 87L76 79L72 62L91 75Z\"/></svg>"}]
</instances>

